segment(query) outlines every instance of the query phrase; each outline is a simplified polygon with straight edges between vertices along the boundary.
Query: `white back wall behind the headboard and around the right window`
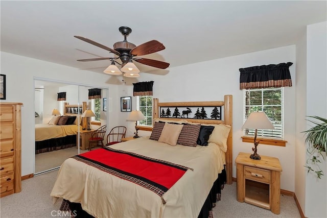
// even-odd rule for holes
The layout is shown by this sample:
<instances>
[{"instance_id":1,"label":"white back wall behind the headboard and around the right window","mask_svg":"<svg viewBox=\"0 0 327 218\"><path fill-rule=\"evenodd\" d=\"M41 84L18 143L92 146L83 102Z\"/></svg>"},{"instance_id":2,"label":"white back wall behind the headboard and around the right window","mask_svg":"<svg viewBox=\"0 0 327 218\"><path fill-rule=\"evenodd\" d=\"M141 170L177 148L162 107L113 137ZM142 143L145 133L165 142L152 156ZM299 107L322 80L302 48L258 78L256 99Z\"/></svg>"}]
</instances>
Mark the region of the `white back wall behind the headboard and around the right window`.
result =
<instances>
[{"instance_id":1,"label":"white back wall behind the headboard and around the right window","mask_svg":"<svg viewBox=\"0 0 327 218\"><path fill-rule=\"evenodd\" d=\"M253 143L243 143L243 91L240 90L239 68L292 62L290 66L293 87L285 87L285 140L286 147L260 144L258 153L279 158L283 172L281 188L294 191L295 164L295 45L276 49L222 58L212 61L172 67L164 76L140 73L142 81L154 81L153 97L159 102L175 101L220 101L225 94L233 95L233 160L239 152L252 153ZM121 88L126 89L126 86ZM132 95L132 87L127 91ZM122 95L123 96L123 95ZM126 95L128 96L128 95ZM135 106L135 97L132 99ZM133 124L129 129L133 128ZM128 132L128 134L132 134ZM140 131L139 135L148 135ZM233 177L236 177L236 165L233 165Z\"/></svg>"}]
</instances>

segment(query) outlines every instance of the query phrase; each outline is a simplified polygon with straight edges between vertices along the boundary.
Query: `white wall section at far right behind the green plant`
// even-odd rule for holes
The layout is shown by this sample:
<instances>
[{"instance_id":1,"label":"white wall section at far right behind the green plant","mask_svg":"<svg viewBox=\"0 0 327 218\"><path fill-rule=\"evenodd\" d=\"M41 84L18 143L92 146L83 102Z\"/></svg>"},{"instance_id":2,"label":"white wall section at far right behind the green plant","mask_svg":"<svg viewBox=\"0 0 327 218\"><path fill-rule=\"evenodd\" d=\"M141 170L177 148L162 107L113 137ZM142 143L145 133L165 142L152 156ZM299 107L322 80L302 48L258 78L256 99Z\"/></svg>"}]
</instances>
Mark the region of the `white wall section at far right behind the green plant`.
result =
<instances>
[{"instance_id":1,"label":"white wall section at far right behind the green plant","mask_svg":"<svg viewBox=\"0 0 327 218\"><path fill-rule=\"evenodd\" d=\"M327 117L327 22L307 27L307 115ZM307 129L312 124L307 122ZM306 157L308 158L308 156ZM305 215L327 217L327 161L321 164L322 179L306 175Z\"/></svg>"}]
</instances>

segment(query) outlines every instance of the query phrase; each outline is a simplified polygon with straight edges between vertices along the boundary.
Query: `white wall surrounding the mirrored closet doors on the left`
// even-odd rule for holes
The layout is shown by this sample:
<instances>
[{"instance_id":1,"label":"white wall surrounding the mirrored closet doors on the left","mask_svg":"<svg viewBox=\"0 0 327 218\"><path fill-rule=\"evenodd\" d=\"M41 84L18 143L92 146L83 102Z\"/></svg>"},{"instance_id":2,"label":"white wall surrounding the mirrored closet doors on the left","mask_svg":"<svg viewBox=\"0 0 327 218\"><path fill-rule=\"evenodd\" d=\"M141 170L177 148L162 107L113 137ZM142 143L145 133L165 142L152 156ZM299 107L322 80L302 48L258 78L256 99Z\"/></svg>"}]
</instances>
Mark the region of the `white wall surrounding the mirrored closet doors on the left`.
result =
<instances>
[{"instance_id":1,"label":"white wall surrounding the mirrored closet doors on the left","mask_svg":"<svg viewBox=\"0 0 327 218\"><path fill-rule=\"evenodd\" d=\"M1 74L6 75L6 100L21 102L21 175L34 173L35 131L34 131L34 78L44 78L63 83L81 84L108 88L111 96L109 127L119 124L120 98L118 86L110 84L110 77L86 70L40 61L1 52ZM53 109L53 108L52 108Z\"/></svg>"}]
</instances>

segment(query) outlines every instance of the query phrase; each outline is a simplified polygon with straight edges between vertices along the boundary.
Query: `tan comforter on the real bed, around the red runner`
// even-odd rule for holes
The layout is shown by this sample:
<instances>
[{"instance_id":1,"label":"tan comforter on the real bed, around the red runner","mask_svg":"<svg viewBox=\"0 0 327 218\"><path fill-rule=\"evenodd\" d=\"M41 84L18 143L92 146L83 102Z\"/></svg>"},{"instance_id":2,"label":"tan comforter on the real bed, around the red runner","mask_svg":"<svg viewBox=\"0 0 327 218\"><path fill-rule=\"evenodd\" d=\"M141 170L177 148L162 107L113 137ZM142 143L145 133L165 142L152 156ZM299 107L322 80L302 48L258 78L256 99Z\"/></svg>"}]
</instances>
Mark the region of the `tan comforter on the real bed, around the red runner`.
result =
<instances>
[{"instance_id":1,"label":"tan comforter on the real bed, around the red runner","mask_svg":"<svg viewBox=\"0 0 327 218\"><path fill-rule=\"evenodd\" d=\"M186 171L162 196L164 204L158 195L142 186L68 158L59 169L51 196L81 203L86 212L96 217L197 217L225 160L214 143L207 147L173 147L145 137L110 148L166 160L194 171Z\"/></svg>"}]
</instances>

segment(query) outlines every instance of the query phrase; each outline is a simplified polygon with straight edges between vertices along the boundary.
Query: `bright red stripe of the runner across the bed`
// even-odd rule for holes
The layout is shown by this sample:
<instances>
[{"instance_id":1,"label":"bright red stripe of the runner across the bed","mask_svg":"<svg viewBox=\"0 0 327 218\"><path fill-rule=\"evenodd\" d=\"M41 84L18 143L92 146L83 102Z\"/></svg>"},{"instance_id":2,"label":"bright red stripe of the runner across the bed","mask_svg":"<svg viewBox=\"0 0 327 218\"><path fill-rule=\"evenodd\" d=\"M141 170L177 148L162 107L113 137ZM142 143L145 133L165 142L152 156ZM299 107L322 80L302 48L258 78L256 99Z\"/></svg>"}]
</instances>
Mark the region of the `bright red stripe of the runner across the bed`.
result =
<instances>
[{"instance_id":1,"label":"bright red stripe of the runner across the bed","mask_svg":"<svg viewBox=\"0 0 327 218\"><path fill-rule=\"evenodd\" d=\"M165 161L160 162L160 160L147 159L144 156L137 157L137 154L134 153L120 152L123 151L97 149L78 156L100 162L129 174L146 178L168 189L171 188L188 169L187 167L183 169L172 166Z\"/></svg>"}]
</instances>

